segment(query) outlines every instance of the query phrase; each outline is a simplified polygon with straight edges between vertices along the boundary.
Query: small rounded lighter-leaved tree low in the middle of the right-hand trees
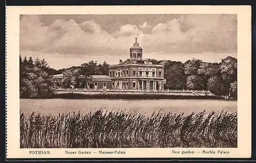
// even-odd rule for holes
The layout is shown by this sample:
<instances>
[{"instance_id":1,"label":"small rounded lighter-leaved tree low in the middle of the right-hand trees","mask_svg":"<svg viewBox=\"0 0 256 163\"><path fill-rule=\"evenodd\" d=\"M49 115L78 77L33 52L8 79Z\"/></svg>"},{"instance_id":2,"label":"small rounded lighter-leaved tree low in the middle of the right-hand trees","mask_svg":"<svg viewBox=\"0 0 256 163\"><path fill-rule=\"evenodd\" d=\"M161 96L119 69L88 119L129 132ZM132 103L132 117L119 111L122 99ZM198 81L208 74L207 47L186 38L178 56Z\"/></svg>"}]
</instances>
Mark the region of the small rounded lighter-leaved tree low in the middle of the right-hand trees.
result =
<instances>
[{"instance_id":1,"label":"small rounded lighter-leaved tree low in the middle of the right-hand trees","mask_svg":"<svg viewBox=\"0 0 256 163\"><path fill-rule=\"evenodd\" d=\"M202 90L203 79L199 75L190 75L187 77L187 88L191 90Z\"/></svg>"}]
</instances>

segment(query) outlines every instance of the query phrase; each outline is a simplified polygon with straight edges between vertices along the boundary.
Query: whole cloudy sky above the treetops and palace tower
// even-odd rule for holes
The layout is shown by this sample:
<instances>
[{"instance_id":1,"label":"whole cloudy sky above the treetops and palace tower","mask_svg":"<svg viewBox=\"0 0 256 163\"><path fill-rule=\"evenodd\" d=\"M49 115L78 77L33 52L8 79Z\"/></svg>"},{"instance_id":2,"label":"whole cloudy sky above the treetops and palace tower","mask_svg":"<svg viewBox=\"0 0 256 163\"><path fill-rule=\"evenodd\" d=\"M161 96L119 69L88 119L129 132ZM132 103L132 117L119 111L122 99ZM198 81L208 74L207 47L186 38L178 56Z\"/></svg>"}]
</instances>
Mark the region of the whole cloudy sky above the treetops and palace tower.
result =
<instances>
[{"instance_id":1,"label":"whole cloudy sky above the treetops and palace tower","mask_svg":"<svg viewBox=\"0 0 256 163\"><path fill-rule=\"evenodd\" d=\"M237 15L20 15L20 55L55 69L118 64L135 38L144 59L221 62L237 58Z\"/></svg>"}]
</instances>

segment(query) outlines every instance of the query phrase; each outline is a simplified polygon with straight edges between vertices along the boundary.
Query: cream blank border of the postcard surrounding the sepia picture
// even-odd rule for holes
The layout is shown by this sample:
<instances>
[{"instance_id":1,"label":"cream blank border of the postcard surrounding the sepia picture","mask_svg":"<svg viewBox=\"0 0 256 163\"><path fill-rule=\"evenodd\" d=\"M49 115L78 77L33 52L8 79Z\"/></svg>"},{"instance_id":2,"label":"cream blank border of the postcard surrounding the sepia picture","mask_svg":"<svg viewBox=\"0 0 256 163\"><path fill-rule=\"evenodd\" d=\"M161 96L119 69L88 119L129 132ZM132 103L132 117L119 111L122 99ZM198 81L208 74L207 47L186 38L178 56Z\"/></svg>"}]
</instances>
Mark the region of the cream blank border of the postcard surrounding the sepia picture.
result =
<instances>
[{"instance_id":1,"label":"cream blank border of the postcard surrounding the sepia picture","mask_svg":"<svg viewBox=\"0 0 256 163\"><path fill-rule=\"evenodd\" d=\"M238 16L238 148L19 148L19 15L20 14L237 14ZM219 157L251 156L251 7L250 6L27 6L6 9L7 158L121 158L121 157ZM65 151L77 154L65 154ZM78 151L91 154L78 154ZM194 151L194 154L174 154ZM202 154L224 150L229 154ZM32 154L31 151L50 151ZM125 154L99 154L125 151ZM93 153L96 152L96 153ZM197 153L201 152L201 153Z\"/></svg>"}]
</instances>

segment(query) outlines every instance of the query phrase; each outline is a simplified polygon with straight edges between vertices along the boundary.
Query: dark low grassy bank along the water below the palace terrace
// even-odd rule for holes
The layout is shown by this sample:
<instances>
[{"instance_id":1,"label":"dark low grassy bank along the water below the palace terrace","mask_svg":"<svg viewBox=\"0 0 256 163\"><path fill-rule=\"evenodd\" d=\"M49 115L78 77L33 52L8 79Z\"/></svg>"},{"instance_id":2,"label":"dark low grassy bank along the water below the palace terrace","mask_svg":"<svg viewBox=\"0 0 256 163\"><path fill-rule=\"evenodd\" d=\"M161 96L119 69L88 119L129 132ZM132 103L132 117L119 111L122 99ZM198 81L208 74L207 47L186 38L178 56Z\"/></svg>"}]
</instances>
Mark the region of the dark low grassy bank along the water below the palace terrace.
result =
<instances>
[{"instance_id":1,"label":"dark low grassy bank along the water below the palace terrace","mask_svg":"<svg viewBox=\"0 0 256 163\"><path fill-rule=\"evenodd\" d=\"M63 93L52 94L50 98L65 99L223 99L219 96L184 96L184 95L165 95L165 94L79 94L79 93Z\"/></svg>"}]
</instances>

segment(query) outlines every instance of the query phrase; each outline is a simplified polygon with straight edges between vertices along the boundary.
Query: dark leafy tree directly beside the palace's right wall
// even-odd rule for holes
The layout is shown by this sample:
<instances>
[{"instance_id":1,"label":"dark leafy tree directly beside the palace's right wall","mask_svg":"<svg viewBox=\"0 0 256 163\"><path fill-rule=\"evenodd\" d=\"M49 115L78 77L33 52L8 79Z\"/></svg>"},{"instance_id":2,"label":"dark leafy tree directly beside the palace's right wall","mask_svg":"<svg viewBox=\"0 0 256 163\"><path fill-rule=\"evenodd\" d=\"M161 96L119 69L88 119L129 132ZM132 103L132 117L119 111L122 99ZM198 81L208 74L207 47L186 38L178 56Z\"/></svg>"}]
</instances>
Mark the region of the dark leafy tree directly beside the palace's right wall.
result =
<instances>
[{"instance_id":1,"label":"dark leafy tree directly beside the palace's right wall","mask_svg":"<svg viewBox=\"0 0 256 163\"><path fill-rule=\"evenodd\" d=\"M184 89L186 77L181 62L166 61L164 64L165 89Z\"/></svg>"}]
</instances>

